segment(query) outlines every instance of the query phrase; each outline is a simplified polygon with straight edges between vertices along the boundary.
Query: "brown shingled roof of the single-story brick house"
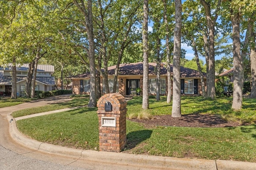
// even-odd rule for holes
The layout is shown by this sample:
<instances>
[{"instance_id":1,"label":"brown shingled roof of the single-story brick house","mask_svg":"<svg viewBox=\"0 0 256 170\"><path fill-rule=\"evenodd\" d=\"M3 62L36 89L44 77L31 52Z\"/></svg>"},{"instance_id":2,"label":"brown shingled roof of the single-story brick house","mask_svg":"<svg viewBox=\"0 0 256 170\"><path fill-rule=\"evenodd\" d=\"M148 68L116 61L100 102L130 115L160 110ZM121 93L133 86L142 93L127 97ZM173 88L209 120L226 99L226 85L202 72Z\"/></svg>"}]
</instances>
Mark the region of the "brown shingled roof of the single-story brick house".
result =
<instances>
[{"instance_id":1,"label":"brown shingled roof of the single-story brick house","mask_svg":"<svg viewBox=\"0 0 256 170\"><path fill-rule=\"evenodd\" d=\"M172 64L170 64L170 66L171 66L171 72L172 72ZM116 65L108 67L108 75L114 75L115 69L116 69ZM161 64L160 74L167 75L167 68L164 67L164 64ZM143 75L143 63L139 62L139 63L130 63L130 64L120 64L118 75L119 76ZM148 63L148 75L156 75L156 63ZM206 76L206 73L203 73L203 75ZM183 78L192 78L192 77L199 78L200 74L197 70L192 70L190 68L180 66L180 76ZM90 78L90 73L87 72L87 73L79 74L76 76L70 76L68 78L86 79L86 78Z\"/></svg>"}]
</instances>

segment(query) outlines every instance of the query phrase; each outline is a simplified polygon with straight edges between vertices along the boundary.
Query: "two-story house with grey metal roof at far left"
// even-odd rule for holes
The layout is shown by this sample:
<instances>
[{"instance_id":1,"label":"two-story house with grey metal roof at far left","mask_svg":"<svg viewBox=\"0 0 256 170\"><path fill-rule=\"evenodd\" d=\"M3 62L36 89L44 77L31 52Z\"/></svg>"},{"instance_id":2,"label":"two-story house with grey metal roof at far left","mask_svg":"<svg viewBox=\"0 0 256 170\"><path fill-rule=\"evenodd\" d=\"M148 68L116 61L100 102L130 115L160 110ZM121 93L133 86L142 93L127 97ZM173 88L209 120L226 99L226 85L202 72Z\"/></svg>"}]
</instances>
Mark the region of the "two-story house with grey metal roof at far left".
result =
<instances>
[{"instance_id":1,"label":"two-story house with grey metal roof at far left","mask_svg":"<svg viewBox=\"0 0 256 170\"><path fill-rule=\"evenodd\" d=\"M17 76L17 96L25 94L25 86L27 79L28 64L16 66ZM0 67L0 94L10 96L12 93L12 65L8 67ZM54 66L38 64L36 73L36 89L41 91L50 91L54 86L55 81L52 74L54 73Z\"/></svg>"}]
</instances>

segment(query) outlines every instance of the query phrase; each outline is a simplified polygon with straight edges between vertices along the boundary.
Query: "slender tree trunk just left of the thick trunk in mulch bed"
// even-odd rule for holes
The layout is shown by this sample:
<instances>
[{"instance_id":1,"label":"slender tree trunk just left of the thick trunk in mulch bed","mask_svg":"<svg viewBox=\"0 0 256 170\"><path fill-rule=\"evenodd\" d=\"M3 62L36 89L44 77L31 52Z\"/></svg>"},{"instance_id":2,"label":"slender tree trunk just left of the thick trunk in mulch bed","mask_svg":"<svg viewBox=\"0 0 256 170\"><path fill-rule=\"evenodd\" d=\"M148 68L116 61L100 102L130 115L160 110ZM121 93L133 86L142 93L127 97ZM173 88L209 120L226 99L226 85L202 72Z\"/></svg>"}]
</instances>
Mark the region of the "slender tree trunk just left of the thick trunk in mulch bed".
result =
<instances>
[{"instance_id":1,"label":"slender tree trunk just left of the thick trunk in mulch bed","mask_svg":"<svg viewBox=\"0 0 256 170\"><path fill-rule=\"evenodd\" d=\"M171 80L171 68L170 68L170 47L169 47L169 28L167 22L167 10L166 10L166 0L163 0L164 3L164 23L166 24L166 63L167 63L167 103L171 102L172 99L172 80Z\"/></svg>"}]
</instances>

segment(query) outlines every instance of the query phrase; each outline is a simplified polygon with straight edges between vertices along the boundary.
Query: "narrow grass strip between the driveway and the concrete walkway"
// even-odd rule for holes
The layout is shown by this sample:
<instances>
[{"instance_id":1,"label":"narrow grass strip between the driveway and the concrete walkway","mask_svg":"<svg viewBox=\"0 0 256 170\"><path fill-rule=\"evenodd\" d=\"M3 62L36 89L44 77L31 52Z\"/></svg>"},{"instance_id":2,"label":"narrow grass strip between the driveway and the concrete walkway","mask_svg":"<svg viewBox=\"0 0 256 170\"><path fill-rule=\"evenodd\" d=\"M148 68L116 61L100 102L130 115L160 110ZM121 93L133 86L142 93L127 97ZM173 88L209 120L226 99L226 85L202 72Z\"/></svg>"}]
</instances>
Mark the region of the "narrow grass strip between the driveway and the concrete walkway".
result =
<instances>
[{"instance_id":1,"label":"narrow grass strip between the driveway and the concrete walkway","mask_svg":"<svg viewBox=\"0 0 256 170\"><path fill-rule=\"evenodd\" d=\"M88 105L88 102L89 102L88 98L74 97L72 100L65 102L65 103L50 104L50 105L46 105L46 106L32 107L32 108L28 108L28 109L14 111L12 113L12 117L32 115L32 114L36 114L36 113L43 113L46 111L53 111L53 110L58 110L58 109L70 108L70 107L85 106L85 105Z\"/></svg>"}]
</instances>

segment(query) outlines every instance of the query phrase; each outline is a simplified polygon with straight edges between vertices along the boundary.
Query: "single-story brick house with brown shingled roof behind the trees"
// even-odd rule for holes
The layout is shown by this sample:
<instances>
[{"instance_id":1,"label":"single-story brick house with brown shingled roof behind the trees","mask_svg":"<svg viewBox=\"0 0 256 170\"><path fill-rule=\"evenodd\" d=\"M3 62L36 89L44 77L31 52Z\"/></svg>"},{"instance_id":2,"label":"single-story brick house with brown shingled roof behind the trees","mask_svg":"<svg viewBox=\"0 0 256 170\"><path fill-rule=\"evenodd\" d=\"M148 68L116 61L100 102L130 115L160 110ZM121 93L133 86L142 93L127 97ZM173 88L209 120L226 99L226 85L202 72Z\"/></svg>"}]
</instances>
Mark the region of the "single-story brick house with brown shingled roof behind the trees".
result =
<instances>
[{"instance_id":1,"label":"single-story brick house with brown shingled roof behind the trees","mask_svg":"<svg viewBox=\"0 0 256 170\"><path fill-rule=\"evenodd\" d=\"M113 90L114 85L114 72L116 66L108 67L108 82L110 92ZM172 72L172 65L171 65ZM181 76L181 93L185 95L202 94L202 86L200 81L199 72L190 68L180 67ZM172 77L172 75L171 75ZM206 74L204 73L204 78ZM84 73L76 76L69 77L72 80L73 94L90 94L90 73ZM204 79L206 82L206 78ZM206 83L205 83L206 84ZM134 95L136 89L143 89L143 63L130 63L120 64L118 71L118 82L116 92L122 95ZM101 91L105 93L104 84L102 84L102 76L100 78ZM164 64L161 64L160 70L160 93L166 95L167 92L167 69ZM140 94L142 94L141 92ZM148 93L156 94L156 63L148 64Z\"/></svg>"}]
</instances>

